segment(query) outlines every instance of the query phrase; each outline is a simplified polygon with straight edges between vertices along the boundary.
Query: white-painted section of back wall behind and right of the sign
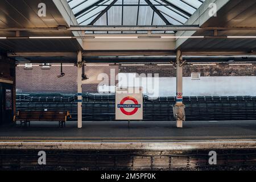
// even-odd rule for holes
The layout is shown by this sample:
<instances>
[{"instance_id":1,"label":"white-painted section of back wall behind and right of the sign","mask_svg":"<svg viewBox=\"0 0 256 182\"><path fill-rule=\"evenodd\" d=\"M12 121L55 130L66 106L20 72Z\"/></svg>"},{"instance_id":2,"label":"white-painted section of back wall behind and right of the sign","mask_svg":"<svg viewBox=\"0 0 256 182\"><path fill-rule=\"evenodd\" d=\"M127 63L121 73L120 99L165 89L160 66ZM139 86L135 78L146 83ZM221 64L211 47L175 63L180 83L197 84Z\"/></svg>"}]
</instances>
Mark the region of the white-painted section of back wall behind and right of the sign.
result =
<instances>
[{"instance_id":1,"label":"white-painted section of back wall behind and right of the sign","mask_svg":"<svg viewBox=\"0 0 256 182\"><path fill-rule=\"evenodd\" d=\"M175 77L139 79L130 73L127 79L119 76L118 86L142 86L143 94L150 97L176 96ZM106 87L101 90L109 91ZM183 96L256 96L256 76L201 77L201 80L183 77Z\"/></svg>"}]
</instances>

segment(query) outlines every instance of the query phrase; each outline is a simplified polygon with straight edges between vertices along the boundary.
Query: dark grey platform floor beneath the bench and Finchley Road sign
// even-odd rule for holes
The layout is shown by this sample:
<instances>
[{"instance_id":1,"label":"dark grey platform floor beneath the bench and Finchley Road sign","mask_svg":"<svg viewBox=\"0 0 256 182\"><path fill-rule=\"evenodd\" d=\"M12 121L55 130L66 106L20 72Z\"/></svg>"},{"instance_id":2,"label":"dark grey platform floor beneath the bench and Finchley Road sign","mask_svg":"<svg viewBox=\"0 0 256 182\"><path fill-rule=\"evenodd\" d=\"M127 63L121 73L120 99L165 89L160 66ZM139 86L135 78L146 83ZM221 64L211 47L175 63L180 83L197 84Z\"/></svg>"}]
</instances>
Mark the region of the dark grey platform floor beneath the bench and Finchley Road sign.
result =
<instances>
[{"instance_id":1,"label":"dark grey platform floor beneath the bench and Finchley Road sign","mask_svg":"<svg viewBox=\"0 0 256 182\"><path fill-rule=\"evenodd\" d=\"M0 126L0 141L82 141L82 142L175 142L196 140L256 140L256 121L187 121L178 129L175 122L135 122L128 128L125 121L31 122L23 127L19 122Z\"/></svg>"}]
</instances>

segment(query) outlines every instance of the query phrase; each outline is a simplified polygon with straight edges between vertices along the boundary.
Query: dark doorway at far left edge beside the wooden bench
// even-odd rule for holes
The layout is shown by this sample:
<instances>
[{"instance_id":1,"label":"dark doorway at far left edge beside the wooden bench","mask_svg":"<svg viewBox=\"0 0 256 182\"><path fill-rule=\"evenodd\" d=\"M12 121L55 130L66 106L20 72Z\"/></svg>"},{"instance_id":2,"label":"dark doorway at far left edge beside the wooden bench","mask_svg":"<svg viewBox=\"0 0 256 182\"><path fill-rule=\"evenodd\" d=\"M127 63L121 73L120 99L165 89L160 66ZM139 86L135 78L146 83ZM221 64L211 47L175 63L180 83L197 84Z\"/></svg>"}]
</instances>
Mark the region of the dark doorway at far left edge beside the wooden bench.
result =
<instances>
[{"instance_id":1,"label":"dark doorway at far left edge beside the wooden bench","mask_svg":"<svg viewBox=\"0 0 256 182\"><path fill-rule=\"evenodd\" d=\"M0 83L0 125L13 118L13 85Z\"/></svg>"}]
</instances>

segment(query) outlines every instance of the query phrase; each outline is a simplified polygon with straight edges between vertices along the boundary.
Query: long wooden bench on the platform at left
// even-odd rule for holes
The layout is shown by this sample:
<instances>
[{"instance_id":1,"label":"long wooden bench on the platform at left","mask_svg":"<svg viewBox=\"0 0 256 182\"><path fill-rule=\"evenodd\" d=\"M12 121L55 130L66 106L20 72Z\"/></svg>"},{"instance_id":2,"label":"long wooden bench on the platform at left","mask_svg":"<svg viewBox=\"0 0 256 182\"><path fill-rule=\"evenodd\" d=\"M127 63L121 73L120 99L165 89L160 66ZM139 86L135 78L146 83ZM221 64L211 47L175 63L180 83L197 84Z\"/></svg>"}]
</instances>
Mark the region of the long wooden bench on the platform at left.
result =
<instances>
[{"instance_id":1,"label":"long wooden bench on the platform at left","mask_svg":"<svg viewBox=\"0 0 256 182\"><path fill-rule=\"evenodd\" d=\"M65 122L71 119L68 111L18 111L14 115L14 122L20 121L20 125L27 123L30 127L31 121L59 121L59 127L65 127Z\"/></svg>"}]
</instances>

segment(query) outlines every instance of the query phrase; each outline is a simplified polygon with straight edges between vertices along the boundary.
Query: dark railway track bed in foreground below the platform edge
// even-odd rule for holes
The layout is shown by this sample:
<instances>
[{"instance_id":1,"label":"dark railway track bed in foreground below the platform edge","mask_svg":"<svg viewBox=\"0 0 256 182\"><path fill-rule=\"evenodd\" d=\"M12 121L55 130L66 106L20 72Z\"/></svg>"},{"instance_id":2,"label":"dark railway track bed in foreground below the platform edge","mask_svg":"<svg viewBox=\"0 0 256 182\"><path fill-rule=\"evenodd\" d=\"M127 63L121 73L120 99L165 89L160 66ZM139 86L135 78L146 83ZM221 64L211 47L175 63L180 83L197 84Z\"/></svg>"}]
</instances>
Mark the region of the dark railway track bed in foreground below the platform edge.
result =
<instances>
[{"instance_id":1,"label":"dark railway track bed in foreground below the platform edge","mask_svg":"<svg viewBox=\"0 0 256 182\"><path fill-rule=\"evenodd\" d=\"M208 150L47 150L38 164L37 150L0 150L2 170L234 170L256 169L255 150L219 150L217 165Z\"/></svg>"}]
</instances>

